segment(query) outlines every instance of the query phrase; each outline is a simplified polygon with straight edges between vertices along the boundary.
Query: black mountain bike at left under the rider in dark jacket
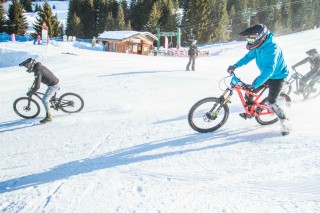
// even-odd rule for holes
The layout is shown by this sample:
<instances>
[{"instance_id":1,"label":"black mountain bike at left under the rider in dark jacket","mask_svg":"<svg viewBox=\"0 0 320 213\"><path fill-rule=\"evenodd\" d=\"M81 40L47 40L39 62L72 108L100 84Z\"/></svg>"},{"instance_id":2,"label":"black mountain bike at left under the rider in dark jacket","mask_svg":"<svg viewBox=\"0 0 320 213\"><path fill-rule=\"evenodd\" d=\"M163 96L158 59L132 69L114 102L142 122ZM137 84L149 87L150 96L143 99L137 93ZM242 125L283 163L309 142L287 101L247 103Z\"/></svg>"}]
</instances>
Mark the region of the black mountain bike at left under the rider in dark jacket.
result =
<instances>
[{"instance_id":1,"label":"black mountain bike at left under the rider in dark jacket","mask_svg":"<svg viewBox=\"0 0 320 213\"><path fill-rule=\"evenodd\" d=\"M41 101L43 93L35 92L28 97L21 97L14 101L13 109L17 115L22 118L35 118L40 114L40 105L33 99L34 96L38 97ZM57 93L51 97L50 107L54 110L61 110L66 113L80 112L84 107L84 101L75 93L65 93L60 97L57 97Z\"/></svg>"}]
</instances>

